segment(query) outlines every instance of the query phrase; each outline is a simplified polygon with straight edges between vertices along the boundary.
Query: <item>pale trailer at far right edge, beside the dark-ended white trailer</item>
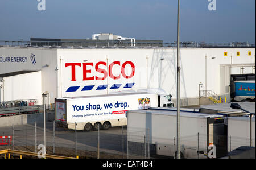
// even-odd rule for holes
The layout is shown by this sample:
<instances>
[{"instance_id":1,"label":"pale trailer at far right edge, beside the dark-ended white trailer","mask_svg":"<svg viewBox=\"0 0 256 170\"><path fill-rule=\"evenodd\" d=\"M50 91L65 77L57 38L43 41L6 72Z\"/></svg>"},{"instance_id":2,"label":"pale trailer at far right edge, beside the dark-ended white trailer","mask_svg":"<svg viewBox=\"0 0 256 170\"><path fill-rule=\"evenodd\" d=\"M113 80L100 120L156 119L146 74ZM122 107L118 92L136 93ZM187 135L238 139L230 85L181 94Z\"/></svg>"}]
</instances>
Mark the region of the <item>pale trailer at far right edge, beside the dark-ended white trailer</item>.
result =
<instances>
[{"instance_id":1,"label":"pale trailer at far right edge, beside the dark-ended white trailer","mask_svg":"<svg viewBox=\"0 0 256 170\"><path fill-rule=\"evenodd\" d=\"M255 115L251 121L253 129L252 146L255 147ZM233 151L240 146L250 146L249 116L228 118L228 151Z\"/></svg>"}]
</instances>

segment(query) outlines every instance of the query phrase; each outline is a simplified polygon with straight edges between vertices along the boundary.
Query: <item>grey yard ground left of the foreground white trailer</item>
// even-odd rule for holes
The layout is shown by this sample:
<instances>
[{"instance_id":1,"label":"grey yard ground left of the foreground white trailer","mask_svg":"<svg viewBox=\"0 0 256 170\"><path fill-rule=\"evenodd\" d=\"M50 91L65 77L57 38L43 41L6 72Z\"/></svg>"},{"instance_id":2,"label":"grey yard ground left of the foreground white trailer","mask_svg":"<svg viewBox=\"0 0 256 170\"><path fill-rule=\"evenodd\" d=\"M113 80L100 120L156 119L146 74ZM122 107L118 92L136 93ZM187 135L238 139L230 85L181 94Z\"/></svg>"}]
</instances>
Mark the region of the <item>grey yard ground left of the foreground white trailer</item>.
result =
<instances>
[{"instance_id":1,"label":"grey yard ground left of the foreground white trailer","mask_svg":"<svg viewBox=\"0 0 256 170\"><path fill-rule=\"evenodd\" d=\"M53 122L46 122L46 146L53 146ZM44 142L43 123L37 123L36 128L37 146ZM0 136L12 136L12 127L0 127ZM100 152L108 154L122 155L123 145L126 153L127 127L111 127L109 130L100 130ZM75 151L75 130L67 130L55 127L55 147L63 147ZM14 126L14 146L35 146L35 125ZM97 151L98 131L77 131L77 150ZM30 149L31 150L31 147ZM35 151L35 147L32 148ZM75 153L74 153L75 155Z\"/></svg>"}]
</instances>

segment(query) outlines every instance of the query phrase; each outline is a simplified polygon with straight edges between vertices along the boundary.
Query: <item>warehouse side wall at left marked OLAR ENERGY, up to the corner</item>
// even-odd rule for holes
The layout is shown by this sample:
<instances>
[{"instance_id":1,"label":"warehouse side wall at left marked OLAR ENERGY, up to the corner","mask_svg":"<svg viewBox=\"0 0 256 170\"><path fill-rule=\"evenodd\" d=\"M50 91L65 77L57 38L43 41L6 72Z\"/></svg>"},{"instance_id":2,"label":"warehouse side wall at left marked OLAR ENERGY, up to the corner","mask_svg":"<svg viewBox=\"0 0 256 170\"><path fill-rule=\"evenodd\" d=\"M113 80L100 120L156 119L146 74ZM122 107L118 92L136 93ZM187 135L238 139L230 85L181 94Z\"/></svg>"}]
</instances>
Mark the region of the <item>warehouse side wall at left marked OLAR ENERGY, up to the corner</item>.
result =
<instances>
[{"instance_id":1,"label":"warehouse side wall at left marked OLAR ENERGY, up to the corner","mask_svg":"<svg viewBox=\"0 0 256 170\"><path fill-rule=\"evenodd\" d=\"M19 48L19 47L0 47L0 74L13 73L19 74L16 76L5 77L5 101L9 99L27 99L27 94L30 94L30 98L28 99L39 99L39 104L42 104L42 93L48 92L50 97L50 102L54 103L54 98L57 96L57 65L56 65L56 53L57 50L55 48ZM32 56L34 55L34 56ZM32 56L32 57L31 57ZM16 61L14 58L21 58L23 61ZM7 60L8 59L8 60ZM20 74L15 72L34 72L40 71L40 75L36 74L38 77L34 77L34 74ZM1 77L1 76L0 76ZM24 80L17 79L19 77L24 77ZM11 80L13 81L9 81ZM40 81L39 81L40 79ZM17 84L19 80L20 83L27 84L27 86L23 86L23 92L19 92L13 87L14 83ZM40 90L38 90L40 83ZM36 91L32 88L32 85L35 84ZM16 87L16 86L15 86ZM9 89L9 90L7 90ZM36 92L36 94L34 94ZM18 93L18 94L16 94ZM20 96L20 94L24 95L24 97ZM40 96L38 96L40 94ZM6 97L9 96L9 97ZM48 97L46 99L46 103L49 103ZM2 100L1 100L2 101Z\"/></svg>"}]
</instances>

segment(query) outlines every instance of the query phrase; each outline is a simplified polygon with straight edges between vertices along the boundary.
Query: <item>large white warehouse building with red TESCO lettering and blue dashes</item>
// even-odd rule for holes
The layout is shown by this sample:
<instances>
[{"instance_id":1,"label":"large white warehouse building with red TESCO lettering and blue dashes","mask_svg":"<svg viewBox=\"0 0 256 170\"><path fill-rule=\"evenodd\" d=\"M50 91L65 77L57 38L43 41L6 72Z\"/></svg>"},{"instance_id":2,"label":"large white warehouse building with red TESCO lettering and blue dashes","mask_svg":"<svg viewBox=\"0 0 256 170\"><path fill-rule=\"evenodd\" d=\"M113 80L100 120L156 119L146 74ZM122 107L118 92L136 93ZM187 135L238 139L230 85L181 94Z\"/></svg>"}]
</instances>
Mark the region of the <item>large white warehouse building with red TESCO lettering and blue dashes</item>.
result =
<instances>
[{"instance_id":1,"label":"large white warehouse building with red TESCO lettering and blue dashes","mask_svg":"<svg viewBox=\"0 0 256 170\"><path fill-rule=\"evenodd\" d=\"M0 47L0 101L161 88L176 99L176 48ZM181 105L197 105L199 84L229 96L230 74L255 73L255 48L181 48Z\"/></svg>"}]
</instances>

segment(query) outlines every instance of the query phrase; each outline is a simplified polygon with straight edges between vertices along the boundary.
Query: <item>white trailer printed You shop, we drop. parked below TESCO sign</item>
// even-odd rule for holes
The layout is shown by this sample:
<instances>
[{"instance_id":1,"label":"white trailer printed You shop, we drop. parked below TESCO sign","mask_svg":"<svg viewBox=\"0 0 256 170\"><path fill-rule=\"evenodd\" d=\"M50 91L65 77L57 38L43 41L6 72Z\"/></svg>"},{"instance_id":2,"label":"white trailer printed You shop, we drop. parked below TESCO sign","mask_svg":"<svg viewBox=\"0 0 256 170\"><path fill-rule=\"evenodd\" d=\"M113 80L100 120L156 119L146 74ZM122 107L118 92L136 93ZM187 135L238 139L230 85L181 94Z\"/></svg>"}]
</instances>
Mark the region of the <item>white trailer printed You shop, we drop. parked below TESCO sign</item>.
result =
<instances>
[{"instance_id":1,"label":"white trailer printed You shop, we drop. parked below TESCO sign","mask_svg":"<svg viewBox=\"0 0 256 170\"><path fill-rule=\"evenodd\" d=\"M101 96L55 98L57 126L90 131L110 126L126 126L127 110L168 105L171 101L157 93L126 93Z\"/></svg>"}]
</instances>

